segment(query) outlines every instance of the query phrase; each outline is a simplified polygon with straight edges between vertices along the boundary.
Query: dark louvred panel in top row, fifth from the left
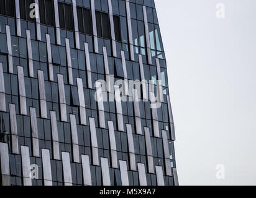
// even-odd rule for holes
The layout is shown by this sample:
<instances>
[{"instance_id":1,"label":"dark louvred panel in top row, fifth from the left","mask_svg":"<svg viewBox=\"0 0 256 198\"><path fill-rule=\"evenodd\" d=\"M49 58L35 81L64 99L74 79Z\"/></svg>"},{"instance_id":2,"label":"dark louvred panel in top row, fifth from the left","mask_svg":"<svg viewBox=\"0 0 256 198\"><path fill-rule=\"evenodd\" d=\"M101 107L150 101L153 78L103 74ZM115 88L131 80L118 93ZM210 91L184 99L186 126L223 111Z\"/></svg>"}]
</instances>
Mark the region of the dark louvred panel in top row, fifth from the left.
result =
<instances>
[{"instance_id":1,"label":"dark louvred panel in top row, fifth from the left","mask_svg":"<svg viewBox=\"0 0 256 198\"><path fill-rule=\"evenodd\" d=\"M86 8L77 7L79 32L93 35L93 24L91 22L91 11Z\"/></svg>"}]
</instances>

